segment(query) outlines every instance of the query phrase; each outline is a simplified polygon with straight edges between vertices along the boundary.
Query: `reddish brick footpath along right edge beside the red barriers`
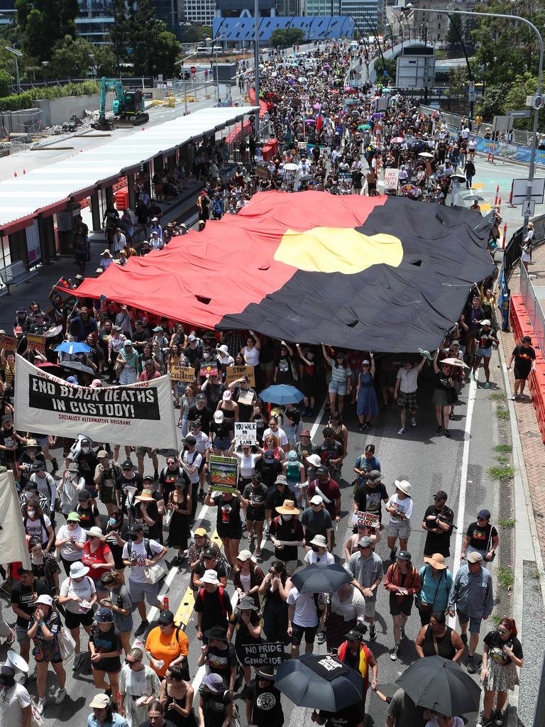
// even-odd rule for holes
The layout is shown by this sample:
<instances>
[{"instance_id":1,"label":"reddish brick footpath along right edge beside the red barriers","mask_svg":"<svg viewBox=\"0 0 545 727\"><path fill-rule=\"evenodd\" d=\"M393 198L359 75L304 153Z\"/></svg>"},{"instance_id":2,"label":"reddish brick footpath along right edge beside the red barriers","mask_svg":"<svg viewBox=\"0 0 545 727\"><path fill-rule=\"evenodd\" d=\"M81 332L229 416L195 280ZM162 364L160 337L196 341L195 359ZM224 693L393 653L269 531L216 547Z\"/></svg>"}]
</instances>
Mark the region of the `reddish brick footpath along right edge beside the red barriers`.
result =
<instances>
[{"instance_id":1,"label":"reddish brick footpath along right edge beside the red barriers","mask_svg":"<svg viewBox=\"0 0 545 727\"><path fill-rule=\"evenodd\" d=\"M530 264L529 272L533 277L533 284L536 286L545 286L545 245L536 247L533 250L533 262ZM520 292L520 276L513 273L509 287L512 295ZM511 352L514 348L514 339L512 333L504 333L500 331L501 345L504 348L506 361L509 361ZM509 382L514 387L513 372L509 371ZM522 443L522 454L528 477L528 486L532 499L533 516L536 521L536 529L538 532L539 545L541 547L541 556L545 561L545 444L541 441L541 433L538 429L536 421L536 410L528 393L528 387L525 389L524 398L514 401L514 410L517 416L517 427L519 430L520 441Z\"/></svg>"}]
</instances>

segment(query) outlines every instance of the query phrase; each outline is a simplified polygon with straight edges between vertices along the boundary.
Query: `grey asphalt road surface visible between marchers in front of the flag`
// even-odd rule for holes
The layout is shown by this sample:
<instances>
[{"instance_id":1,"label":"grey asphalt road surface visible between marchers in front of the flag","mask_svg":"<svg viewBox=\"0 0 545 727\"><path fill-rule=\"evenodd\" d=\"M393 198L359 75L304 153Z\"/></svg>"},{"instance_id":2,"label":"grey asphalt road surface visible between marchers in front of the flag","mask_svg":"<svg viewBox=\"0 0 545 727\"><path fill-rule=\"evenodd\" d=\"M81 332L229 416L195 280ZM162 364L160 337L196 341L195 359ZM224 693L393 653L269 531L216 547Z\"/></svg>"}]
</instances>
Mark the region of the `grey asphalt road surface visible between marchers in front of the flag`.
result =
<instances>
[{"instance_id":1,"label":"grey asphalt road surface visible between marchers in front of the flag","mask_svg":"<svg viewBox=\"0 0 545 727\"><path fill-rule=\"evenodd\" d=\"M424 547L424 534L421 532L421 516L424 510L432 503L432 495L437 489L444 489L448 492L448 505L453 508L458 523L461 526L474 519L474 515L480 507L488 507L493 518L498 512L498 488L490 481L487 475L488 467L493 463L493 446L497 441L496 419L493 417L493 401L491 393L496 391L496 383L500 380L497 369L498 358L494 353L492 361L492 387L485 390L476 387L473 383L466 387L461 396L461 404L456 408L456 421L451 422L450 439L444 435L435 433L435 416L430 401L431 392L427 384L428 374L424 369L421 374L421 387L419 390L419 405L421 407L418 416L418 425L409 427L405 435L397 435L399 428L399 417L397 406L391 405L388 410L382 410L373 428L366 433L356 431L357 420L350 408L346 413L347 425L350 430L348 457L343 470L342 481L342 521L339 524L339 532L336 535L337 545L335 555L342 562L342 548L350 529L350 514L352 511L352 466L363 451L365 445L374 442L376 455L382 462L384 483L389 493L393 491L393 481L398 478L406 478L413 487L413 530L409 539L409 550L413 554L413 563L420 567L422 564L421 554ZM468 401L469 398L469 401ZM472 401L473 400L473 401ZM319 442L320 432L323 424L326 423L326 412L321 412L323 417L314 422L308 422L312 426L313 441ZM469 428L469 418L471 427ZM210 520L210 511L200 506L197 518L211 526L214 530L214 522ZM387 521L387 516L385 518ZM461 545L461 530L459 535L453 535L449 564L451 569L456 570L459 561L455 555L459 555ZM241 542L241 548L246 544ZM387 569L389 551L386 544L385 532L382 542L377 546L376 552L384 559L384 570ZM174 557L171 552L167 560ZM273 547L267 540L263 550L261 566L265 570L273 560ZM494 568L497 569L494 563ZM167 582L169 584L166 595L169 596L170 608L175 611L179 601L185 593L189 581L189 574L185 566L179 569L171 569ZM164 589L163 589L164 590ZM233 594L232 584L227 586L230 595ZM498 608L501 608L498 607ZM500 611L498 610L498 613ZM9 614L9 606L4 608L4 614ZM155 614L156 615L156 614ZM138 624L138 616L135 613L135 626ZM8 619L9 620L9 619ZM389 648L393 645L392 620L389 616L387 592L384 587L379 586L379 597L377 602L377 639L371 643L371 650L379 662L379 688L384 694L393 694L395 691L394 682L401 672L411 664L415 658L413 640L419 630L419 616L413 609L406 627L407 638L403 641L400 651L400 658L392 662L389 658ZM485 624L486 625L486 624ZM486 629L488 630L488 629ZM484 632L486 632L486 630ZM195 623L193 619L187 625L187 636L190 640L190 673L195 682L200 682L202 670L198 671L196 659L201 643L195 639ZM83 642L84 643L84 642ZM325 651L325 645L317 647L318 651ZM0 659L3 661L5 647L0 648ZM480 649L478 650L480 651ZM35 691L35 683L30 683L31 691ZM52 672L49 674L48 685L54 686L55 681ZM196 686L196 685L195 685ZM79 724L89 713L88 704L94 686L89 664L86 664L76 675L71 672L71 664L68 664L67 680L68 697L60 706L48 704L44 713L44 721L47 727L60 726L76 718ZM300 707L294 707L285 700L284 710L286 713L286 724L290 726L310 724L310 713ZM367 700L369 724L383 724L385 706L376 695L369 694ZM242 713L243 710L241 710ZM244 722L244 720L243 720Z\"/></svg>"}]
</instances>

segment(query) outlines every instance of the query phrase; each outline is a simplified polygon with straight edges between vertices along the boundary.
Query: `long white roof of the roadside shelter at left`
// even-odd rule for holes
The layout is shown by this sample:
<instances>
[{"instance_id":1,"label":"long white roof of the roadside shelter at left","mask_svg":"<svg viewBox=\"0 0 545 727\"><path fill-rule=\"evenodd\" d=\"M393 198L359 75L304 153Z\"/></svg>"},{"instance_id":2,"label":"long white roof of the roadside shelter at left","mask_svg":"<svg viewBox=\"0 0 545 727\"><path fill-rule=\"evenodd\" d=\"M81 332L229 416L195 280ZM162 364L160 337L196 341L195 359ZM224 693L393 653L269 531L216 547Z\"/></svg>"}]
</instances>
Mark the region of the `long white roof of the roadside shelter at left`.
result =
<instances>
[{"instance_id":1,"label":"long white roof of the roadside shelter at left","mask_svg":"<svg viewBox=\"0 0 545 727\"><path fill-rule=\"evenodd\" d=\"M186 142L235 124L256 110L253 106L202 109L74 153L62 161L33 169L24 177L0 182L0 228L9 228L39 212L60 212L70 198L90 194L97 185L116 181L129 169L140 167L158 154L171 153Z\"/></svg>"}]
</instances>

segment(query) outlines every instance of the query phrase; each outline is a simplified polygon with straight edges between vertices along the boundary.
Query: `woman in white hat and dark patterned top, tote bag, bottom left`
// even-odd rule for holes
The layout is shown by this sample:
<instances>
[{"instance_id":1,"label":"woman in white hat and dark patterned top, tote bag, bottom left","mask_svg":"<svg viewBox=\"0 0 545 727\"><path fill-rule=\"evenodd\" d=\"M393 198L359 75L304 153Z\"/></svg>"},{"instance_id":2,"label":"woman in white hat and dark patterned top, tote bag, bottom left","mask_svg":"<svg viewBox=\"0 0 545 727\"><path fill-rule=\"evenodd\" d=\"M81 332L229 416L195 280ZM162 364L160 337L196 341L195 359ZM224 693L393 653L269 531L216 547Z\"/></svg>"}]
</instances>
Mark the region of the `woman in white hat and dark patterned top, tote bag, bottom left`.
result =
<instances>
[{"instance_id":1,"label":"woman in white hat and dark patterned top, tote bag, bottom left","mask_svg":"<svg viewBox=\"0 0 545 727\"><path fill-rule=\"evenodd\" d=\"M28 622L28 638L34 642L33 656L36 659L36 674L38 686L38 712L42 714L46 703L47 669L51 663L59 688L55 695L55 704L60 704L66 696L66 672L62 666L62 656L59 651L60 617L53 608L53 599L50 595L39 595L34 602L36 610Z\"/></svg>"}]
</instances>

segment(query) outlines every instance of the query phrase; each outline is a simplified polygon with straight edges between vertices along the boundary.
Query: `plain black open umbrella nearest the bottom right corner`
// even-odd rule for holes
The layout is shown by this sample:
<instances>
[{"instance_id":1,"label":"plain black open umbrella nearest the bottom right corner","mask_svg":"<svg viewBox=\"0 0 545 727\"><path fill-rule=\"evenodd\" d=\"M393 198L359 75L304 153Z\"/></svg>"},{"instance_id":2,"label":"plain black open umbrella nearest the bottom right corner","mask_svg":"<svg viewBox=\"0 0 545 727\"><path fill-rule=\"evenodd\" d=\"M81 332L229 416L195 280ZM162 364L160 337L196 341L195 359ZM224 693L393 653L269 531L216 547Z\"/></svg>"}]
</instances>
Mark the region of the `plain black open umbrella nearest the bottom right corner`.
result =
<instances>
[{"instance_id":1,"label":"plain black open umbrella nearest the bottom right corner","mask_svg":"<svg viewBox=\"0 0 545 727\"><path fill-rule=\"evenodd\" d=\"M443 656L419 659L395 683L419 707L448 717L479 709L480 686L459 664Z\"/></svg>"}]
</instances>

